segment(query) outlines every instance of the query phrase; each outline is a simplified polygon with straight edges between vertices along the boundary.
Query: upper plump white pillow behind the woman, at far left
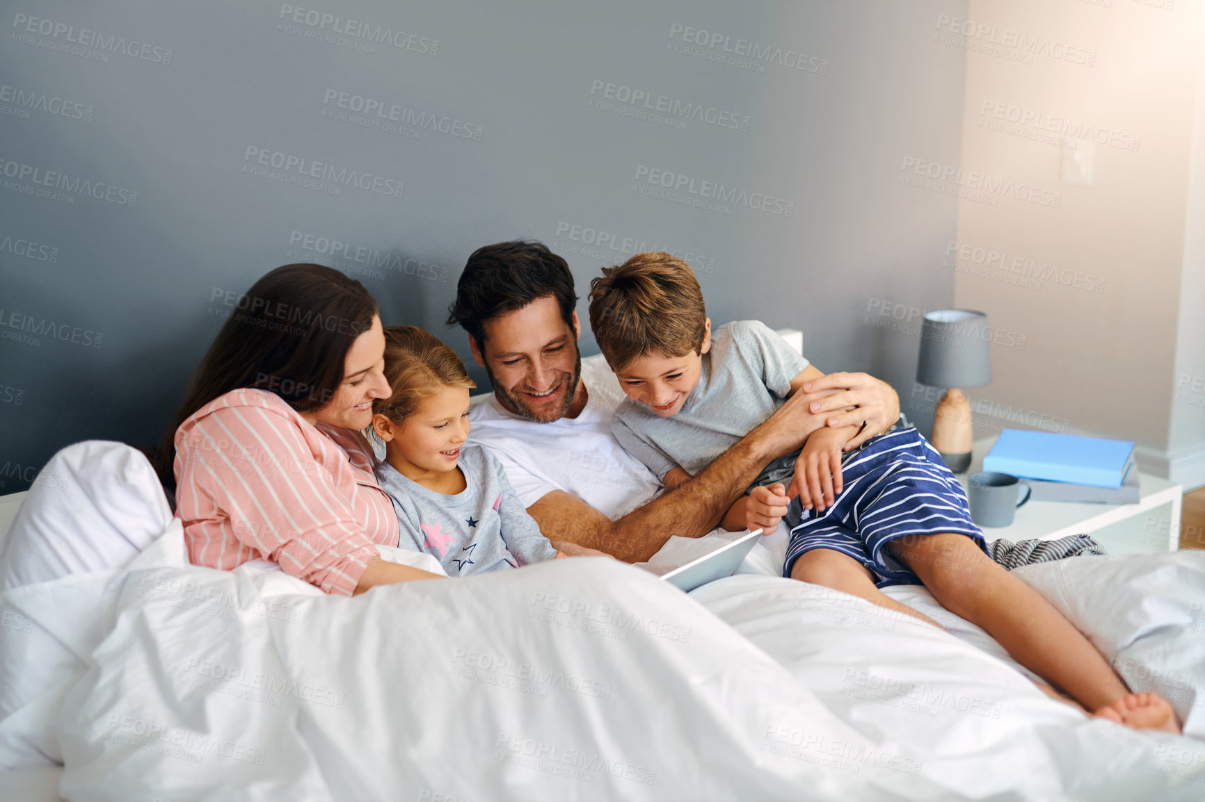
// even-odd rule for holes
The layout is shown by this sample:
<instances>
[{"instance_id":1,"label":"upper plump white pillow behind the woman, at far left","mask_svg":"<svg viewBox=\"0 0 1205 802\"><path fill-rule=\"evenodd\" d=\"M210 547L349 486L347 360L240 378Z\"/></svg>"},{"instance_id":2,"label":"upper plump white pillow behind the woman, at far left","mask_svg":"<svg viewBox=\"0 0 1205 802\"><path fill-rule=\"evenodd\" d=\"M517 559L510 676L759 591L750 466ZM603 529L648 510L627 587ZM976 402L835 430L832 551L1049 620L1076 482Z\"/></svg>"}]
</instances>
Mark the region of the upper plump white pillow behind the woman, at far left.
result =
<instances>
[{"instance_id":1,"label":"upper plump white pillow behind the woman, at far left","mask_svg":"<svg viewBox=\"0 0 1205 802\"><path fill-rule=\"evenodd\" d=\"M169 521L163 485L140 452L101 440L67 446L34 479L0 543L0 592L125 567Z\"/></svg>"}]
</instances>

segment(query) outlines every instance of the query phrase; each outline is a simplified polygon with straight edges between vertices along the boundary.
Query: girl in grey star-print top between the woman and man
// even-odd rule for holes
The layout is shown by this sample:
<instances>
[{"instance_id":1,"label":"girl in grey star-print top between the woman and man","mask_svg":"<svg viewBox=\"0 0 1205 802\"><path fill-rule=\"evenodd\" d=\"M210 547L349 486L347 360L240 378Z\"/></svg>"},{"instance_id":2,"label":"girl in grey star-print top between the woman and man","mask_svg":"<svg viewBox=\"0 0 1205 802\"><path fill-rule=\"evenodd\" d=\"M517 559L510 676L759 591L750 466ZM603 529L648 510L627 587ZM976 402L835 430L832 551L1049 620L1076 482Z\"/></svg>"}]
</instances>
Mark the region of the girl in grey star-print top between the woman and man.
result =
<instances>
[{"instance_id":1,"label":"girl in grey star-print top between the woman and man","mask_svg":"<svg viewBox=\"0 0 1205 802\"><path fill-rule=\"evenodd\" d=\"M498 459L464 444L476 385L455 352L416 326L384 335L393 391L372 402L372 431L386 444L376 476L401 524L398 544L430 554L449 577L565 556L528 515Z\"/></svg>"}]
</instances>

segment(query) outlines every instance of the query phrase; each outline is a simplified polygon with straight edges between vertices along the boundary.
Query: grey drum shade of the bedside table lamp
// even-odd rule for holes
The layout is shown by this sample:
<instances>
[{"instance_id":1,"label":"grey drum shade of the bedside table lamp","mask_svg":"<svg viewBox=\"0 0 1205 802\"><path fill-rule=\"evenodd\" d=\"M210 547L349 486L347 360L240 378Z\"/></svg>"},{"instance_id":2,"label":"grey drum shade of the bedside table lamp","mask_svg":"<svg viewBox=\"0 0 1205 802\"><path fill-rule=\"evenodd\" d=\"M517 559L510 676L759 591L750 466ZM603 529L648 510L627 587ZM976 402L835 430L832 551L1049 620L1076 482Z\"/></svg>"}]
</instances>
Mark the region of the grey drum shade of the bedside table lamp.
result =
<instances>
[{"instance_id":1,"label":"grey drum shade of the bedside table lamp","mask_svg":"<svg viewBox=\"0 0 1205 802\"><path fill-rule=\"evenodd\" d=\"M921 326L919 384L942 388L992 383L992 332L987 316L971 309L937 309Z\"/></svg>"}]
</instances>

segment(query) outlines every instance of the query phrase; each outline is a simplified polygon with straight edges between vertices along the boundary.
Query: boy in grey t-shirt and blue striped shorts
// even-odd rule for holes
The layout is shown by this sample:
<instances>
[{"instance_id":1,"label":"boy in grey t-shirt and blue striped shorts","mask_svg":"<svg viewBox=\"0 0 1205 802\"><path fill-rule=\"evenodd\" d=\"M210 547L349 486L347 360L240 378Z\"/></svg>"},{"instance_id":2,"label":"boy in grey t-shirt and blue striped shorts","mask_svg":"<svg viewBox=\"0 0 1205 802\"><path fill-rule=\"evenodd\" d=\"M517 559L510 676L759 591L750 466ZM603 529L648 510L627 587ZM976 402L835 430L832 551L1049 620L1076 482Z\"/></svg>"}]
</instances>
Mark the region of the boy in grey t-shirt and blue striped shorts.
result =
<instances>
[{"instance_id":1,"label":"boy in grey t-shirt and blue striped shorts","mask_svg":"<svg viewBox=\"0 0 1205 802\"><path fill-rule=\"evenodd\" d=\"M604 269L590 282L590 326L628 396L612 432L671 488L823 376L760 323L730 323L712 336L690 267L665 253ZM987 556L962 486L916 429L844 453L857 431L821 429L798 461L771 462L729 509L724 527L769 531L786 517L792 531L783 576L937 626L880 590L924 584L1086 710L1135 729L1180 732L1164 700L1130 694L1078 630ZM790 502L784 483L793 473L799 497Z\"/></svg>"}]
</instances>

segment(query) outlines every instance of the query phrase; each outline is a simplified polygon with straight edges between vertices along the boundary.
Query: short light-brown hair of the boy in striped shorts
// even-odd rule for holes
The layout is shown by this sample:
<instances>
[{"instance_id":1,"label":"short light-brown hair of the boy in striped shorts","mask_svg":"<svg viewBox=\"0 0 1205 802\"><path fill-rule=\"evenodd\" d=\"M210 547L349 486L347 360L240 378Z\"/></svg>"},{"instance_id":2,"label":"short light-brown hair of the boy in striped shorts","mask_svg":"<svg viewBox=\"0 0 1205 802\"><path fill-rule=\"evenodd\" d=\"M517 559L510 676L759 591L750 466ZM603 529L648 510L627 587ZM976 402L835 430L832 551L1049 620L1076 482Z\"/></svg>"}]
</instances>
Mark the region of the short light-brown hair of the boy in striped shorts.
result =
<instances>
[{"instance_id":1,"label":"short light-brown hair of the boy in striped shorts","mask_svg":"<svg viewBox=\"0 0 1205 802\"><path fill-rule=\"evenodd\" d=\"M700 353L706 322L694 272L668 253L637 253L590 282L590 329L612 370L648 354Z\"/></svg>"}]
</instances>

